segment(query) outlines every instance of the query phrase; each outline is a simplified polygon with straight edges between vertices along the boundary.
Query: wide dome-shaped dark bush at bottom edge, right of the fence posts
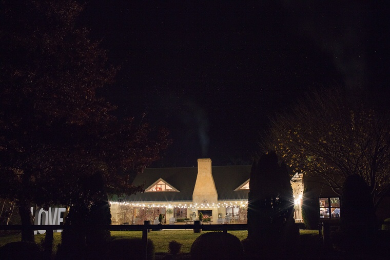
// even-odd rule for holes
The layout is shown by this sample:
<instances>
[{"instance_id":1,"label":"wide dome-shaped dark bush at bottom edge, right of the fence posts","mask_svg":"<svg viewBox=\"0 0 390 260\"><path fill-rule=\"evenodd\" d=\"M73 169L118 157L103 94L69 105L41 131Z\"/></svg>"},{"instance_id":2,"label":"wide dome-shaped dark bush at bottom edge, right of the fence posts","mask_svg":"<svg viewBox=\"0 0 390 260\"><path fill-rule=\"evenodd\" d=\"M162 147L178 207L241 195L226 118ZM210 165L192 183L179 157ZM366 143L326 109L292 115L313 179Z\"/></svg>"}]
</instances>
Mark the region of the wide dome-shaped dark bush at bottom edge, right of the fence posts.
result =
<instances>
[{"instance_id":1,"label":"wide dome-shaped dark bush at bottom edge, right of the fence posts","mask_svg":"<svg viewBox=\"0 0 390 260\"><path fill-rule=\"evenodd\" d=\"M192 259L242 259L244 251L240 239L224 232L208 232L198 236L190 250Z\"/></svg>"}]
</instances>

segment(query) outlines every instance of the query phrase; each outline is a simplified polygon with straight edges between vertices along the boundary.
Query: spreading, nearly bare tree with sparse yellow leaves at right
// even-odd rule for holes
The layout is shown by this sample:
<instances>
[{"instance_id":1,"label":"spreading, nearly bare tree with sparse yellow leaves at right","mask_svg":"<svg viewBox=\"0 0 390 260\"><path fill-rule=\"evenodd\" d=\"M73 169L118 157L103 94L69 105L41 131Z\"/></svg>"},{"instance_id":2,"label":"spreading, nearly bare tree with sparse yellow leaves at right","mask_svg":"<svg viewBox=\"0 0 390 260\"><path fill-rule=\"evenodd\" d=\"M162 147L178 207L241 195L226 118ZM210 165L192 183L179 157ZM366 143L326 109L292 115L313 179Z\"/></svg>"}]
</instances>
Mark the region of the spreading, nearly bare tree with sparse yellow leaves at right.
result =
<instances>
[{"instance_id":1,"label":"spreading, nearly bare tree with sparse yellow leaves at right","mask_svg":"<svg viewBox=\"0 0 390 260\"><path fill-rule=\"evenodd\" d=\"M389 144L383 107L362 98L347 101L333 89L314 91L291 111L277 114L260 146L338 194L347 176L360 175L377 207L390 187Z\"/></svg>"}]
</instances>

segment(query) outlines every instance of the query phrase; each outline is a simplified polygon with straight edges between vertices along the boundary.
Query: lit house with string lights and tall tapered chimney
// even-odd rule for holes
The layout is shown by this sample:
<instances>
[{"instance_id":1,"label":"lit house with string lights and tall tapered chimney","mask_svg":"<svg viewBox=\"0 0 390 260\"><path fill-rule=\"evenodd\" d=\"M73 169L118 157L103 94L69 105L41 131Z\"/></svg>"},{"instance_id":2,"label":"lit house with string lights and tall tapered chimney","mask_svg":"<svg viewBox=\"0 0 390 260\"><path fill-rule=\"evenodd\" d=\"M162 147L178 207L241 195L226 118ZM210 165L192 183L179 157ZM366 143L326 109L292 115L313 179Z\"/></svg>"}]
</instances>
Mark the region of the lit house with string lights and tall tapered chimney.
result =
<instances>
[{"instance_id":1,"label":"lit house with string lights and tall tapered chimney","mask_svg":"<svg viewBox=\"0 0 390 260\"><path fill-rule=\"evenodd\" d=\"M165 223L192 221L202 212L210 223L246 223L251 165L212 166L211 159L198 159L198 167L147 168L133 184L145 192L123 201L112 201L113 224L143 224L162 214ZM300 175L294 176L297 181ZM303 183L292 182L296 219L302 219Z\"/></svg>"}]
</instances>

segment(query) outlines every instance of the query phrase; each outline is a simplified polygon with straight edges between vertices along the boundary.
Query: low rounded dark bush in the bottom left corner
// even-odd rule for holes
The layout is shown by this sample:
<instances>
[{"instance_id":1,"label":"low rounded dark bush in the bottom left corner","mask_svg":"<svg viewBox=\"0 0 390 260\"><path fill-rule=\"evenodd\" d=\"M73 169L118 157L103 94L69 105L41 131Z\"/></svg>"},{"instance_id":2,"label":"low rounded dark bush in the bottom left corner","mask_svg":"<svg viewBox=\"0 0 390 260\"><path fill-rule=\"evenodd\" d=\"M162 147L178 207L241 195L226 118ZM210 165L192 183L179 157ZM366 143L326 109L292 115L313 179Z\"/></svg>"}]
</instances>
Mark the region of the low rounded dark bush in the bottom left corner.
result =
<instances>
[{"instance_id":1,"label":"low rounded dark bush in the bottom left corner","mask_svg":"<svg viewBox=\"0 0 390 260\"><path fill-rule=\"evenodd\" d=\"M42 258L42 251L33 242L11 242L0 247L0 259L2 260L38 260Z\"/></svg>"}]
</instances>

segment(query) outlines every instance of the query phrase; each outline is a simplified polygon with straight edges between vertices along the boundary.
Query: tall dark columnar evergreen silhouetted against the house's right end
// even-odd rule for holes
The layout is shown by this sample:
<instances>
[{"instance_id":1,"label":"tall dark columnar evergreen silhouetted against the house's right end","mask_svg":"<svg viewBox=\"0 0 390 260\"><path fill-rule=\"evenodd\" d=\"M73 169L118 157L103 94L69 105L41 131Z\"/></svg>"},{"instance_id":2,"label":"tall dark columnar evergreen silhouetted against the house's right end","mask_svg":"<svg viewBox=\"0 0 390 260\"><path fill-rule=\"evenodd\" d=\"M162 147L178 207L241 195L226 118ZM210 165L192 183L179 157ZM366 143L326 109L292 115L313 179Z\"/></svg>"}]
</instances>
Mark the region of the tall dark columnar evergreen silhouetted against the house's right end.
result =
<instances>
[{"instance_id":1,"label":"tall dark columnar evergreen silhouetted against the house's right end","mask_svg":"<svg viewBox=\"0 0 390 260\"><path fill-rule=\"evenodd\" d=\"M275 153L253 162L248 195L248 239L261 245L265 258L286 256L299 241L293 218L294 199L290 178ZM278 250L275 250L278 245Z\"/></svg>"}]
</instances>

